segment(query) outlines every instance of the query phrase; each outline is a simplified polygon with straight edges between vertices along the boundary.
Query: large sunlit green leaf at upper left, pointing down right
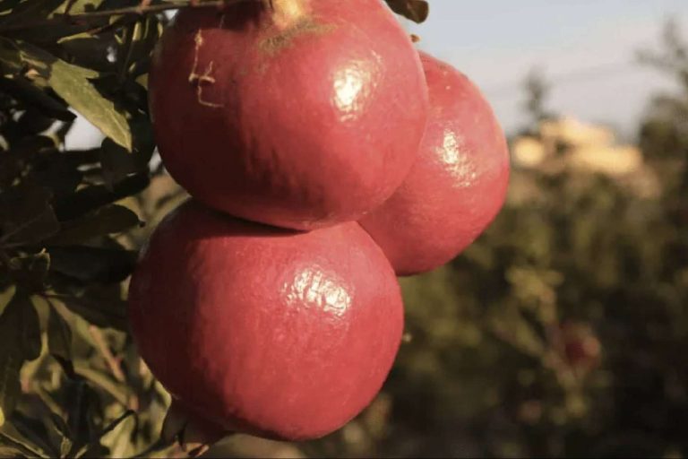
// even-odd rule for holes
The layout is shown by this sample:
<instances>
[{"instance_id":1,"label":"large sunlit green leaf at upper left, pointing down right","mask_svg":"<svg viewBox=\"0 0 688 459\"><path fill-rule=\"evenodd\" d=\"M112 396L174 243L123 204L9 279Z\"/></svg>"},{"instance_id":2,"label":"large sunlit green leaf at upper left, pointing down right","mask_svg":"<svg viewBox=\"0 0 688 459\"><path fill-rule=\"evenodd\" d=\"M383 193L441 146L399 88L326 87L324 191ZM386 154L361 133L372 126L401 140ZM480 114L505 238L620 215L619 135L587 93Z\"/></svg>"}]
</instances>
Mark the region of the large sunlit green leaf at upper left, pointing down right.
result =
<instances>
[{"instance_id":1,"label":"large sunlit green leaf at upper left, pointing down right","mask_svg":"<svg viewBox=\"0 0 688 459\"><path fill-rule=\"evenodd\" d=\"M107 137L122 145L127 151L132 150L132 133L125 115L115 108L113 101L104 98L90 82L90 79L99 76L98 72L68 64L28 43L20 43L19 47L24 54L24 60L39 72L42 65L47 65L47 84L57 95Z\"/></svg>"}]
</instances>

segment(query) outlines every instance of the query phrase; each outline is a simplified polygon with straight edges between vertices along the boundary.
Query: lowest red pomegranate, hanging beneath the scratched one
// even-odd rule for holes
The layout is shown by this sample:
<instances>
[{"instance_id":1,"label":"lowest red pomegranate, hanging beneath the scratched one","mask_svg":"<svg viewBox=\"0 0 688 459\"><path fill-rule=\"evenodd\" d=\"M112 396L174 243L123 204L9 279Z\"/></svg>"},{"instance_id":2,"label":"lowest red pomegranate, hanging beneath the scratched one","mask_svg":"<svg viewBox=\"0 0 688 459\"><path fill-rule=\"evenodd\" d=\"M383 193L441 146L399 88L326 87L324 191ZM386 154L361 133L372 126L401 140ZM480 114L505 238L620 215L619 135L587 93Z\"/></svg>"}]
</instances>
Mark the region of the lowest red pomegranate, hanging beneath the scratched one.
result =
<instances>
[{"instance_id":1,"label":"lowest red pomegranate, hanging beneath the scratched one","mask_svg":"<svg viewBox=\"0 0 688 459\"><path fill-rule=\"evenodd\" d=\"M356 222L303 233L193 201L160 223L129 289L134 340L170 394L222 429L304 440L380 390L403 307Z\"/></svg>"}]
</instances>

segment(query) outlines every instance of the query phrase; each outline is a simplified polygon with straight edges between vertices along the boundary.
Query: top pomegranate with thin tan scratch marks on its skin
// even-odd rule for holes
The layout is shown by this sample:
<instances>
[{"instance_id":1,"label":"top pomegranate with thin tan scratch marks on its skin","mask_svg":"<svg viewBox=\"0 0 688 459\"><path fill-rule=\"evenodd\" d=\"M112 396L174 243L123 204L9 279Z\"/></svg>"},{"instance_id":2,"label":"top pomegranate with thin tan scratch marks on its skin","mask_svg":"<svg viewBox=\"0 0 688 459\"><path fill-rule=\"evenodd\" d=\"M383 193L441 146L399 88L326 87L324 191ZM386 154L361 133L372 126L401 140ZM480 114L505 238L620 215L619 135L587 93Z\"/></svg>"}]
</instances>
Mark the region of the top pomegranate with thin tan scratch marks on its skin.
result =
<instances>
[{"instance_id":1,"label":"top pomegranate with thin tan scratch marks on its skin","mask_svg":"<svg viewBox=\"0 0 688 459\"><path fill-rule=\"evenodd\" d=\"M428 100L417 52L380 0L300 2L288 26L257 1L178 13L149 101L162 160L196 199L313 230L356 221L400 186Z\"/></svg>"}]
</instances>

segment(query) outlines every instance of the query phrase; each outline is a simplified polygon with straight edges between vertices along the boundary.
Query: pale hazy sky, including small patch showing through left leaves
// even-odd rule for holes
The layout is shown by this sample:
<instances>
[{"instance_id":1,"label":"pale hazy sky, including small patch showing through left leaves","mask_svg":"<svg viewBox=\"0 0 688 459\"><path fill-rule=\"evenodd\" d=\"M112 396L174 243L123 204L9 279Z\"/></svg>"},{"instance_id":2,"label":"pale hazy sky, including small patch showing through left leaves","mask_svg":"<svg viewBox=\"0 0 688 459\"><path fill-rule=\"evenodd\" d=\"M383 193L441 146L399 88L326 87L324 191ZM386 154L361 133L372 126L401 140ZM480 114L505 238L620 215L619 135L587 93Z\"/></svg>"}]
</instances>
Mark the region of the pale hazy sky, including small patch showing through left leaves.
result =
<instances>
[{"instance_id":1,"label":"pale hazy sky, including small patch showing through left leaves","mask_svg":"<svg viewBox=\"0 0 688 459\"><path fill-rule=\"evenodd\" d=\"M634 53L657 48L667 18L688 39L688 0L429 0L427 22L409 24L420 47L477 83L507 133L520 128L522 82L540 69L553 84L556 113L635 132L649 96L673 82L638 65ZM83 120L68 148L99 143Z\"/></svg>"}]
</instances>

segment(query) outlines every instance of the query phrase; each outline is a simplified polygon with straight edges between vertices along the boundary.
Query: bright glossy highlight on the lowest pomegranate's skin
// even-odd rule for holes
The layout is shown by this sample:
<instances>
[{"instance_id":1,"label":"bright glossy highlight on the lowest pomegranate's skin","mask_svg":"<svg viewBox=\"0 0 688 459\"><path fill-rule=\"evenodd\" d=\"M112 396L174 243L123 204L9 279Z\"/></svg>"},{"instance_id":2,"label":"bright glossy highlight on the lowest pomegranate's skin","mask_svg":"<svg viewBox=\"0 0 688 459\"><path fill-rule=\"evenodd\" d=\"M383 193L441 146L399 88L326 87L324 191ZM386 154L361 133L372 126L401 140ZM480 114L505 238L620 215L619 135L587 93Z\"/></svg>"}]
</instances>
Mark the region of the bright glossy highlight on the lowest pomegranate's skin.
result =
<instances>
[{"instance_id":1,"label":"bright glossy highlight on the lowest pomegranate's skin","mask_svg":"<svg viewBox=\"0 0 688 459\"><path fill-rule=\"evenodd\" d=\"M338 318L346 315L352 303L344 282L317 266L297 272L294 279L284 285L283 291L290 306L316 307Z\"/></svg>"}]
</instances>

